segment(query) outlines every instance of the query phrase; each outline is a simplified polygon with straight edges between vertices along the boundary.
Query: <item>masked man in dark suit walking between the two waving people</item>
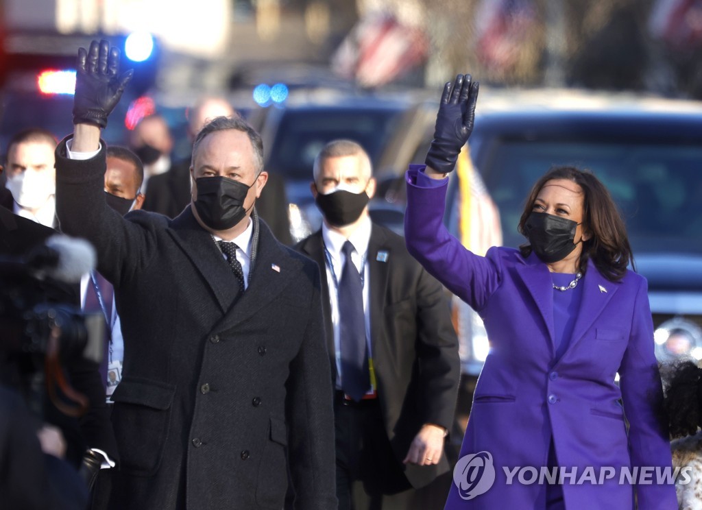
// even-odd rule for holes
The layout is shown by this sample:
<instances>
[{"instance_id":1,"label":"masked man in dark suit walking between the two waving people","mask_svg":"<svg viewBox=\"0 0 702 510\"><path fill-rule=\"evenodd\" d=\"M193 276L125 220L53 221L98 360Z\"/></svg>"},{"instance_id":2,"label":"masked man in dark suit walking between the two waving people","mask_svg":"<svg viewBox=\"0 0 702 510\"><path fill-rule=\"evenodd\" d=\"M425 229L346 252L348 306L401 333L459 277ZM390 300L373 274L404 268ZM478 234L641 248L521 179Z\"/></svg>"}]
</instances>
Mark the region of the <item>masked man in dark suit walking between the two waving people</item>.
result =
<instances>
[{"instance_id":1,"label":"masked man in dark suit walking between the two waving people","mask_svg":"<svg viewBox=\"0 0 702 510\"><path fill-rule=\"evenodd\" d=\"M413 496L407 489L449 469L443 450L460 362L448 300L402 237L371 223L375 180L360 145L326 145L314 161L311 189L324 224L296 248L326 274L339 508L406 509ZM349 294L345 281L354 278L360 281ZM353 311L352 300L363 309Z\"/></svg>"}]
</instances>

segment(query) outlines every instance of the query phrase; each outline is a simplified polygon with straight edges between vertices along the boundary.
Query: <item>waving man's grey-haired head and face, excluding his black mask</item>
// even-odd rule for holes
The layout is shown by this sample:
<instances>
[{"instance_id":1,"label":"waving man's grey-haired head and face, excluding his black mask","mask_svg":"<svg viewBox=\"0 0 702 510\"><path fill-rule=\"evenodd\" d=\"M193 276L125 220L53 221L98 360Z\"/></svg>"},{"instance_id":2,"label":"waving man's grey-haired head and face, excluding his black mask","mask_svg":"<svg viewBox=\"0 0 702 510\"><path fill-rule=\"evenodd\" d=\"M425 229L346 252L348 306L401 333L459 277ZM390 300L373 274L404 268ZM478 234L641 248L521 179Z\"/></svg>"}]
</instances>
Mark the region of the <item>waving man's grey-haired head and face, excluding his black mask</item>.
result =
<instances>
[{"instance_id":1,"label":"waving man's grey-haired head and face, excluding his black mask","mask_svg":"<svg viewBox=\"0 0 702 510\"><path fill-rule=\"evenodd\" d=\"M268 179L266 172L256 177L253 146L243 131L227 129L204 137L197 147L190 167L192 201L197 200L197 182L200 177L227 177L251 186L244 199L244 208L251 214L253 201L258 199Z\"/></svg>"}]
</instances>

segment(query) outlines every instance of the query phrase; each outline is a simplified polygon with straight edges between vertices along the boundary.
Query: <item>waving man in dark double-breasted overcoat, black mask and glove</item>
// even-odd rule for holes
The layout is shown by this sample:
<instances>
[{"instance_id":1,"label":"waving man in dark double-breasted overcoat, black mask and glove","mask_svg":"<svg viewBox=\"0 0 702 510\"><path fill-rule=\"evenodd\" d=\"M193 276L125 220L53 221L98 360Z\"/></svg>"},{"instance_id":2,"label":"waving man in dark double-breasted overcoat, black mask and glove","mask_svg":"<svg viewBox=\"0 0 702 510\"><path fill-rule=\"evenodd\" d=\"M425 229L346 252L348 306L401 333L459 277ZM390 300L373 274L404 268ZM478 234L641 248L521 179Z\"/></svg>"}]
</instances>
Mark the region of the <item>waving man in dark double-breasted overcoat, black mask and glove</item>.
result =
<instances>
[{"instance_id":1,"label":"waving man in dark double-breasted overcoat, black mask and glove","mask_svg":"<svg viewBox=\"0 0 702 510\"><path fill-rule=\"evenodd\" d=\"M118 62L107 41L79 50L74 137L56 154L61 227L95 245L121 317L111 508L281 508L290 470L297 508L336 509L319 268L251 214L260 137L213 120L194 144L190 208L121 217L99 139L131 77Z\"/></svg>"}]
</instances>

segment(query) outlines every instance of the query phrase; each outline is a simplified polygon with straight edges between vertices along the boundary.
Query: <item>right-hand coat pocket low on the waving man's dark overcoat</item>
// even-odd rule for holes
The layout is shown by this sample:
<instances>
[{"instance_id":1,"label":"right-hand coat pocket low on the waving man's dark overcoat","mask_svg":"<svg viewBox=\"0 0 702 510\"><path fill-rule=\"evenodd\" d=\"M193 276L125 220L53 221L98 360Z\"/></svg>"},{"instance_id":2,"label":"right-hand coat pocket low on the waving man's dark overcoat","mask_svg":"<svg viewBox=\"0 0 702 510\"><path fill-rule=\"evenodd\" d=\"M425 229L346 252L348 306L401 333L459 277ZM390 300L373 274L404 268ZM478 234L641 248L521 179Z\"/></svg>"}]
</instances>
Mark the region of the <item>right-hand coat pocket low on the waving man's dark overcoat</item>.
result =
<instances>
[{"instance_id":1,"label":"right-hand coat pocket low on the waving man's dark overcoat","mask_svg":"<svg viewBox=\"0 0 702 510\"><path fill-rule=\"evenodd\" d=\"M258 466L256 502L264 508L282 509L288 490L288 430L283 420L270 418L266 440Z\"/></svg>"}]
</instances>

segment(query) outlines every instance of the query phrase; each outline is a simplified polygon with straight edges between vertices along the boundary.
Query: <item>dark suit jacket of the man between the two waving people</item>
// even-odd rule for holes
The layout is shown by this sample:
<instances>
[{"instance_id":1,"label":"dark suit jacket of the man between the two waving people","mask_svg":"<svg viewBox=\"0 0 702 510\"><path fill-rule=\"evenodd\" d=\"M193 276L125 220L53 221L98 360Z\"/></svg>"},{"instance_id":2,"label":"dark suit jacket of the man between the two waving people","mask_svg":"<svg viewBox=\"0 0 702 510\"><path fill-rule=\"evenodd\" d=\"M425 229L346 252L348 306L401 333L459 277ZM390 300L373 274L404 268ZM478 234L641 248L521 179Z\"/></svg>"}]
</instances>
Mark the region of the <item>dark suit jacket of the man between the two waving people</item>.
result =
<instances>
[{"instance_id":1,"label":"dark suit jacket of the man between the two waving people","mask_svg":"<svg viewBox=\"0 0 702 510\"><path fill-rule=\"evenodd\" d=\"M326 275L321 230L300 241L296 248L315 260ZM381 252L387 253L385 261L378 257ZM451 430L461 376L458 339L444 289L409 255L401 236L373 224L366 260L378 398L385 432L402 465L423 424L437 424ZM336 381L326 277L322 278L322 295L331 377ZM442 455L436 465L408 464L404 474L413 487L420 488L448 470L446 455Z\"/></svg>"}]
</instances>

